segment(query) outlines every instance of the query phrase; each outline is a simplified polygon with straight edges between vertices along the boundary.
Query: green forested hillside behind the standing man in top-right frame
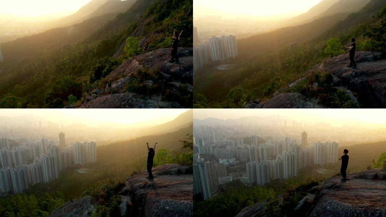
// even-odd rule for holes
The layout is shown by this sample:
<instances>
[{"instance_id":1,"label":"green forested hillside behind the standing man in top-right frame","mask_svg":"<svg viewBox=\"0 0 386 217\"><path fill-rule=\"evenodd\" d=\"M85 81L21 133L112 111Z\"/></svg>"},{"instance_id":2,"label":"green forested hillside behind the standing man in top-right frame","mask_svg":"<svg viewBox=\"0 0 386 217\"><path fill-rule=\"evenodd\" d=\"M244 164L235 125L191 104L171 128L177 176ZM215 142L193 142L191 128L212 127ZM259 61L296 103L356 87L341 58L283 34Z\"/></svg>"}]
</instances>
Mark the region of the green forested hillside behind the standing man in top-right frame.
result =
<instances>
[{"instance_id":1,"label":"green forested hillside behind the standing man in top-right frame","mask_svg":"<svg viewBox=\"0 0 386 217\"><path fill-rule=\"evenodd\" d=\"M328 46L341 52L351 37L356 38L357 51L385 53L385 25L385 3L372 0L359 12L348 15L317 37L305 42L290 44L272 53L256 52L256 55L245 59L232 59L232 63L239 64L234 70L223 71L213 66L205 66L195 74L194 108L242 108L245 102L256 98L272 98L277 90L285 90L289 83L305 77L306 71L330 57L331 53L326 50ZM287 35L290 38L292 34ZM296 41L296 38L293 38L293 41ZM243 52L239 49L239 55ZM340 54L339 52L335 54ZM357 107L345 93L336 88L328 88L327 84L332 79L328 72L309 76L308 82L326 84L327 88L312 92L310 85L306 83L287 91L317 97L322 105L327 107Z\"/></svg>"}]
</instances>

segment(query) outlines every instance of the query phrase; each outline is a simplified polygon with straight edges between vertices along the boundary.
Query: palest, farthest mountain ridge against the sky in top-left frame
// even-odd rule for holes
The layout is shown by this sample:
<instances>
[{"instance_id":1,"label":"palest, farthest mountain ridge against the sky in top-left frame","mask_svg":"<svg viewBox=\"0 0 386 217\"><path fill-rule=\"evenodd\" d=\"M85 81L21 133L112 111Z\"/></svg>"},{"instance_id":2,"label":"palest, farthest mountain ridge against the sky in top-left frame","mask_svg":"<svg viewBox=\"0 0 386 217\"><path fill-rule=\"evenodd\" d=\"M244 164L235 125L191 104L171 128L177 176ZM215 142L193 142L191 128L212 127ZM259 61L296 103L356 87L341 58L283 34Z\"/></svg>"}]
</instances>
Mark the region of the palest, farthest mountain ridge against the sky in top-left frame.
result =
<instances>
[{"instance_id":1,"label":"palest, farthest mountain ridge against the sky in top-left frame","mask_svg":"<svg viewBox=\"0 0 386 217\"><path fill-rule=\"evenodd\" d=\"M106 3L108 0L91 0L86 5L81 7L77 12L74 14L68 15L66 17L63 17L61 19L55 20L51 25L55 27L63 27L66 25L72 25L77 22L81 22L85 20L84 18L88 15L92 14L101 7L104 3Z\"/></svg>"}]
</instances>

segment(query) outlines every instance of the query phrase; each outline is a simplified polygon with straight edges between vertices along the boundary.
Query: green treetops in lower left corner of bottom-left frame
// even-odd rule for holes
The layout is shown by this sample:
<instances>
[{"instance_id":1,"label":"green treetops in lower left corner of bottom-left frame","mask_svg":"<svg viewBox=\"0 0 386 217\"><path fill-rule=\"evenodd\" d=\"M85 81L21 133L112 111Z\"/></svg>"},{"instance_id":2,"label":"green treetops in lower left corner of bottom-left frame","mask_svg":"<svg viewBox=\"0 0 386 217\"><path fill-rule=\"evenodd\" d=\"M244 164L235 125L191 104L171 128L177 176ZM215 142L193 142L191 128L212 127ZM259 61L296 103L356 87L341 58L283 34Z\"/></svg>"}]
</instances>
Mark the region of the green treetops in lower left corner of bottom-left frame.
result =
<instances>
[{"instance_id":1,"label":"green treetops in lower left corner of bottom-left frame","mask_svg":"<svg viewBox=\"0 0 386 217\"><path fill-rule=\"evenodd\" d=\"M40 217L48 216L53 210L64 204L63 194L45 193L37 198L35 195L19 193L0 198L0 216Z\"/></svg>"}]
</instances>

